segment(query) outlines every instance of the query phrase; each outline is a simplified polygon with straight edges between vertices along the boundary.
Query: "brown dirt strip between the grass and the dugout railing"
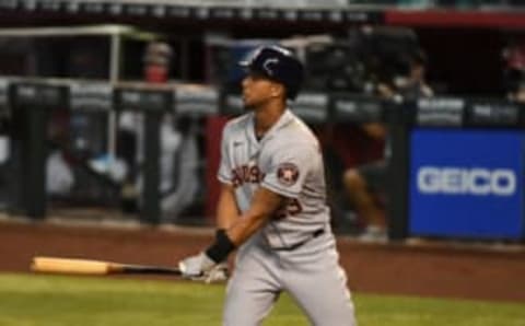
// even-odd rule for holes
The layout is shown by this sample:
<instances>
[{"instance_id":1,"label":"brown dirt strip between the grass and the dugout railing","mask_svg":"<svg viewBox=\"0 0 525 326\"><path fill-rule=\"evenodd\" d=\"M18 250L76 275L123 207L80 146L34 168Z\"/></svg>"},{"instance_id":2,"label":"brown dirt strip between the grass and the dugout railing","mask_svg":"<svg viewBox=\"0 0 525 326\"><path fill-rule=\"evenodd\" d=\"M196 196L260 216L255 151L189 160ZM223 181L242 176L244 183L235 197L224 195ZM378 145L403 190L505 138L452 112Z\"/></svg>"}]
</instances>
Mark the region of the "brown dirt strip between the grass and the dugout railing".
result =
<instances>
[{"instance_id":1,"label":"brown dirt strip between the grass and the dugout railing","mask_svg":"<svg viewBox=\"0 0 525 326\"><path fill-rule=\"evenodd\" d=\"M211 230L0 221L0 271L28 271L35 255L174 265L209 243ZM341 264L357 292L525 301L525 248L363 244L340 237Z\"/></svg>"}]
</instances>

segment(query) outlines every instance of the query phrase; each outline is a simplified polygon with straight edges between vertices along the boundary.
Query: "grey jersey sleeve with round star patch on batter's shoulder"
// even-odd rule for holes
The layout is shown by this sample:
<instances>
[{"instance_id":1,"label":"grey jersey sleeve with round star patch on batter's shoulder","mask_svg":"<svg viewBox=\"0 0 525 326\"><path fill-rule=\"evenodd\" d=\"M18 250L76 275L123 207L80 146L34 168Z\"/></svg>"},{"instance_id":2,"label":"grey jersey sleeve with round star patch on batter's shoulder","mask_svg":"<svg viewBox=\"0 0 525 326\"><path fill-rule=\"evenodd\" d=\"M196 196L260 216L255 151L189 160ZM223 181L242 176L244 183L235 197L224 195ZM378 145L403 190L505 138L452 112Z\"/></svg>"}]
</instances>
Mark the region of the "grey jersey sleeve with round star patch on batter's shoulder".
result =
<instances>
[{"instance_id":1,"label":"grey jersey sleeve with round star patch on batter's shoulder","mask_svg":"<svg viewBox=\"0 0 525 326\"><path fill-rule=\"evenodd\" d=\"M281 147L271 153L261 186L284 197L298 198L316 160L313 147Z\"/></svg>"}]
</instances>

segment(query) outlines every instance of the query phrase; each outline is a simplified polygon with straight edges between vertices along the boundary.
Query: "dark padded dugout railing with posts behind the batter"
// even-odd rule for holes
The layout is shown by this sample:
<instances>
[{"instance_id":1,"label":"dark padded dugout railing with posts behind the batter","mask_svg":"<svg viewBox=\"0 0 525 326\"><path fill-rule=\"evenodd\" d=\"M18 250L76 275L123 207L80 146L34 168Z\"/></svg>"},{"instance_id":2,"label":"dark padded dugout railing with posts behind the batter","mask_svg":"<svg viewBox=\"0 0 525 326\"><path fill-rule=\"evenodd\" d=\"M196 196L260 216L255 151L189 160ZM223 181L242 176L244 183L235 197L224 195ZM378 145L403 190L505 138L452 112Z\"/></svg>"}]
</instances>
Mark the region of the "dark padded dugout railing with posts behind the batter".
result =
<instances>
[{"instance_id":1,"label":"dark padded dugout railing with posts behind the batter","mask_svg":"<svg viewBox=\"0 0 525 326\"><path fill-rule=\"evenodd\" d=\"M10 191L18 194L15 201L22 213L34 218L46 217L45 189L45 131L48 110L62 106L84 110L139 110L144 114L144 186L140 221L149 224L160 222L159 193L159 143L160 118L163 113L189 116L225 115L243 112L238 94L222 92L205 85L166 84L153 86L147 83L107 83L73 80L33 80L7 78L0 82L0 107L10 112L24 112L22 130L16 130L19 140L11 130L14 151L20 151L21 164L13 167L19 181L12 183ZM390 240L402 240L415 235L411 188L411 151L413 130L514 130L525 129L525 107L498 98L451 98L433 97L412 103L382 101L360 94L324 94L304 92L292 104L292 109L307 123L351 121L355 124L384 121L389 126L392 140L392 168L388 187L388 217ZM441 132L441 131L440 131ZM446 133L446 131L443 131ZM520 139L525 139L523 135ZM525 142L524 142L525 143ZM445 145L446 147L446 145ZM465 152L468 152L468 148ZM524 151L525 152L525 151ZM520 155L523 159L525 153ZM472 163L476 165L475 163ZM518 221L514 221L512 240L524 238L524 163L517 171L516 196L520 208ZM462 170L463 171L463 170ZM467 171L468 172L468 171ZM476 171L475 171L476 172ZM502 190L508 187L495 184ZM446 181L445 181L446 182ZM450 181L448 181L450 182ZM478 177L483 186L485 179ZM498 182L498 181L497 181ZM452 178L454 186L454 178ZM450 186L450 185L448 185ZM474 185L476 186L476 185ZM479 185L478 185L479 186ZM445 187L446 188L446 187ZM508 187L509 188L509 187ZM446 190L446 189L445 189ZM498 189L497 189L498 190ZM446 193L446 191L445 191ZM436 194L439 196L443 194ZM445 194L446 195L446 194ZM464 195L464 194L462 194ZM468 195L468 194L467 194ZM516 224L517 223L517 224ZM416 232L417 233L417 232ZM481 234L485 237L486 234ZM421 232L419 235L458 236L462 234ZM467 237L470 234L467 234ZM476 233L474 233L476 236ZM488 234L492 238L505 238L506 233Z\"/></svg>"}]
</instances>

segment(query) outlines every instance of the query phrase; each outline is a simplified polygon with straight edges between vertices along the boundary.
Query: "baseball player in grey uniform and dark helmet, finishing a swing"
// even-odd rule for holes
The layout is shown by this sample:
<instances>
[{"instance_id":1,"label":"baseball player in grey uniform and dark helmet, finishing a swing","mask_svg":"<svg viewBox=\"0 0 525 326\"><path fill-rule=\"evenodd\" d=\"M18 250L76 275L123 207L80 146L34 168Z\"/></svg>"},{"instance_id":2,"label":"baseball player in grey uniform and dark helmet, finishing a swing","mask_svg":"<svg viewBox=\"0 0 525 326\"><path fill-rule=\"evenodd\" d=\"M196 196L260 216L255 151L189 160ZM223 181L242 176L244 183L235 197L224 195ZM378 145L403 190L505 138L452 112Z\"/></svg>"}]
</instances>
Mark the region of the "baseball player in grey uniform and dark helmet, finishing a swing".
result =
<instances>
[{"instance_id":1,"label":"baseball player in grey uniform and dark helmet, finishing a swing","mask_svg":"<svg viewBox=\"0 0 525 326\"><path fill-rule=\"evenodd\" d=\"M302 63L284 48L264 46L241 65L249 112L223 130L215 241L179 268L188 278L213 279L238 249L225 326L259 325L282 291L313 325L357 325L329 226L319 144L287 108L300 90Z\"/></svg>"}]
</instances>

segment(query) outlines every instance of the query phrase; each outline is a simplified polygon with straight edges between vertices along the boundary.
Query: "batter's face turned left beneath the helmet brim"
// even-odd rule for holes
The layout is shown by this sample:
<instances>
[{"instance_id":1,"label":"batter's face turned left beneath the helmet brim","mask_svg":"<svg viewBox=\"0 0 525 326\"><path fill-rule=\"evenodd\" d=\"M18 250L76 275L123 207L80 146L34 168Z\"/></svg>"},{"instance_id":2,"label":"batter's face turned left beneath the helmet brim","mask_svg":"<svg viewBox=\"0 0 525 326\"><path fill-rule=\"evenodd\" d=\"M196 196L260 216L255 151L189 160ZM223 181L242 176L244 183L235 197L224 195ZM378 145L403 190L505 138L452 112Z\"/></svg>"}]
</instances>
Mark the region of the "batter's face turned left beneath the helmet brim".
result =
<instances>
[{"instance_id":1,"label":"batter's face turned left beneath the helmet brim","mask_svg":"<svg viewBox=\"0 0 525 326\"><path fill-rule=\"evenodd\" d=\"M280 84L254 72L243 80L243 102L246 108L257 108L279 95Z\"/></svg>"}]
</instances>

